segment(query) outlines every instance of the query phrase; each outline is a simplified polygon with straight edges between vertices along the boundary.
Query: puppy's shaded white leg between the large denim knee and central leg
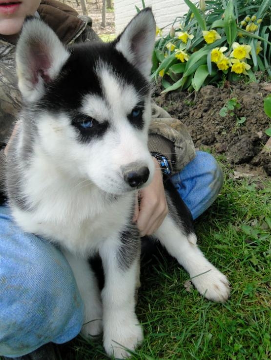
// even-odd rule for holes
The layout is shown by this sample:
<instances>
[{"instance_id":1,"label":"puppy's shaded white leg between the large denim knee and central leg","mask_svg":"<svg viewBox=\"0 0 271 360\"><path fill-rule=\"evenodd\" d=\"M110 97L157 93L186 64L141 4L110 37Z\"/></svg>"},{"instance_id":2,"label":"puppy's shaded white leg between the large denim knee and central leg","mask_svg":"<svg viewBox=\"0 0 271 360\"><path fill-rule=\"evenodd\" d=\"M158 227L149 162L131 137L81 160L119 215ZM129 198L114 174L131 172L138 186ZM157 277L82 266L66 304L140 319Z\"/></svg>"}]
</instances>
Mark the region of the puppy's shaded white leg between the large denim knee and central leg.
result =
<instances>
[{"instance_id":1,"label":"puppy's shaded white leg between the large denim knee and central leg","mask_svg":"<svg viewBox=\"0 0 271 360\"><path fill-rule=\"evenodd\" d=\"M73 270L84 303L84 324L81 332L85 337L99 335L103 331L103 307L95 274L86 259L76 257L68 251L63 253Z\"/></svg>"}]
</instances>

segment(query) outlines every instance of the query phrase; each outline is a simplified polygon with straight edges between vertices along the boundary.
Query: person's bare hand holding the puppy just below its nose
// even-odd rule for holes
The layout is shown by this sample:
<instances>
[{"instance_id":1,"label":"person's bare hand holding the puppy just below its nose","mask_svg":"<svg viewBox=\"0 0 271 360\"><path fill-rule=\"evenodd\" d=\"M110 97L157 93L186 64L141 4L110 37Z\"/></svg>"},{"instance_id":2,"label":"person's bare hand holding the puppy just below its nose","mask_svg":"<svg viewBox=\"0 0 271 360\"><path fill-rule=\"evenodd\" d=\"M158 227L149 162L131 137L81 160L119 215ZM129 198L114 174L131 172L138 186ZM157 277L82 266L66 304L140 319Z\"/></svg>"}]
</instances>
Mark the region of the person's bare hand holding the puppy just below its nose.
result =
<instances>
[{"instance_id":1,"label":"person's bare hand holding the puppy just below its nose","mask_svg":"<svg viewBox=\"0 0 271 360\"><path fill-rule=\"evenodd\" d=\"M152 182L136 194L133 221L140 231L140 236L153 234L160 227L168 213L162 171L158 161L155 158L153 158L153 161L155 163L155 172Z\"/></svg>"}]
</instances>

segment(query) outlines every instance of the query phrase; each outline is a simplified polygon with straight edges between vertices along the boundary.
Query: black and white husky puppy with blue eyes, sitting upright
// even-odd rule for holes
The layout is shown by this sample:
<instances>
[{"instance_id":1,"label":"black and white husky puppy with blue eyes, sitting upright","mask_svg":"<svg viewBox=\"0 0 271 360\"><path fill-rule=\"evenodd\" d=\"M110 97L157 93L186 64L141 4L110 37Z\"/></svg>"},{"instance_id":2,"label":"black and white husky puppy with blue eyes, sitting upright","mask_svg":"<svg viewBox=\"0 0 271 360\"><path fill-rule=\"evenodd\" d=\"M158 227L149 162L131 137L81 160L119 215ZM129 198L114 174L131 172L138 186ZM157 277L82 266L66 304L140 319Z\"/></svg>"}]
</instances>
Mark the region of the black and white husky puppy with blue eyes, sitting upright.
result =
<instances>
[{"instance_id":1,"label":"black and white husky puppy with blue eyes, sitting upright","mask_svg":"<svg viewBox=\"0 0 271 360\"><path fill-rule=\"evenodd\" d=\"M151 9L111 43L64 47L41 20L25 21L16 62L23 98L7 156L7 191L16 222L63 249L85 305L85 336L129 356L143 341L135 314L140 237L135 191L153 177L147 148L149 73L155 41ZM227 278L196 245L188 210L168 196L169 214L153 235L207 299L229 297ZM180 215L182 214L182 215ZM102 258L100 294L88 265Z\"/></svg>"}]
</instances>

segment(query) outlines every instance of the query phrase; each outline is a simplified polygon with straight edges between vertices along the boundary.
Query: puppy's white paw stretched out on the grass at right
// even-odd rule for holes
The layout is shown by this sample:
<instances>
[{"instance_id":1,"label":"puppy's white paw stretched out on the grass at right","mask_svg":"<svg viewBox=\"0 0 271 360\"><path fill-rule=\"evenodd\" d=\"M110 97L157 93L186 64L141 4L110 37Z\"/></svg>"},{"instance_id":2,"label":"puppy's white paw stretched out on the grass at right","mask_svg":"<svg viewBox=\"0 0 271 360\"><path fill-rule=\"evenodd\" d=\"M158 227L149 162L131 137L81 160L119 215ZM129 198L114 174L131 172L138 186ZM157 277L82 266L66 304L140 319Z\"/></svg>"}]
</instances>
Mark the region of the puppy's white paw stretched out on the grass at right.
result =
<instances>
[{"instance_id":1,"label":"puppy's white paw stretched out on the grass at right","mask_svg":"<svg viewBox=\"0 0 271 360\"><path fill-rule=\"evenodd\" d=\"M209 265L191 279L196 289L208 300L224 303L229 299L229 281L216 267Z\"/></svg>"}]
</instances>

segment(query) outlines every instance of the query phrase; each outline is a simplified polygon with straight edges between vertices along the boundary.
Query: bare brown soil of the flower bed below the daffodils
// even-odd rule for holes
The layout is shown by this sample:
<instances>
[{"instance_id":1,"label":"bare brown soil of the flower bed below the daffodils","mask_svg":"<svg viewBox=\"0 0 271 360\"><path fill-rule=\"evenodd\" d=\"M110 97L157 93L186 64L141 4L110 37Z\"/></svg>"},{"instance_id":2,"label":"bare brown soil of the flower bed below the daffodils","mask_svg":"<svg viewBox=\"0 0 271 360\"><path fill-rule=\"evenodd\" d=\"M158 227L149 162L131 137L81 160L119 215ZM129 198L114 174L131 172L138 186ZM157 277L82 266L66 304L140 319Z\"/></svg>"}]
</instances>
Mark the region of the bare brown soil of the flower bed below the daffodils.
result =
<instances>
[{"instance_id":1,"label":"bare brown soil of the flower bed below the daffodils","mask_svg":"<svg viewBox=\"0 0 271 360\"><path fill-rule=\"evenodd\" d=\"M156 93L155 101L187 125L195 147L225 154L236 176L271 176L271 148L265 145L269 139L265 130L271 126L271 119L263 109L263 99L271 93L271 85L226 85L208 85L193 94ZM240 108L234 110L234 115L220 116L220 109L231 98L237 98ZM243 116L246 121L238 124Z\"/></svg>"}]
</instances>

